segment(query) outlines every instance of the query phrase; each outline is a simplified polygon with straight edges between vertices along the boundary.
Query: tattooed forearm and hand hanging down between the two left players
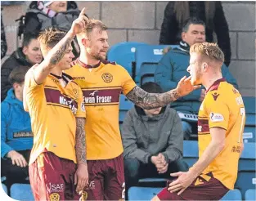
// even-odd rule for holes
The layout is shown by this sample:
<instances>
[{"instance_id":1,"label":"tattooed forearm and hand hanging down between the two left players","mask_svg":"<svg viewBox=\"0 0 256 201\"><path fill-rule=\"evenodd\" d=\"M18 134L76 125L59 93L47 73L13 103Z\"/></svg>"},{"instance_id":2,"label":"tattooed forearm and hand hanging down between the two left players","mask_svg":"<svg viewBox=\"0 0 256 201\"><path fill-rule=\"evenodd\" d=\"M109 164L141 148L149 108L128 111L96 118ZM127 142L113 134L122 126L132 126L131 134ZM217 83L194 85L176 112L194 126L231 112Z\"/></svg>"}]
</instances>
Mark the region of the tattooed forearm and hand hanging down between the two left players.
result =
<instances>
[{"instance_id":1,"label":"tattooed forearm and hand hanging down between the two left players","mask_svg":"<svg viewBox=\"0 0 256 201\"><path fill-rule=\"evenodd\" d=\"M78 168L74 174L74 184L77 184L77 193L88 185L88 165L86 162L86 139L84 124L85 118L76 118L75 154L78 162Z\"/></svg>"}]
</instances>

